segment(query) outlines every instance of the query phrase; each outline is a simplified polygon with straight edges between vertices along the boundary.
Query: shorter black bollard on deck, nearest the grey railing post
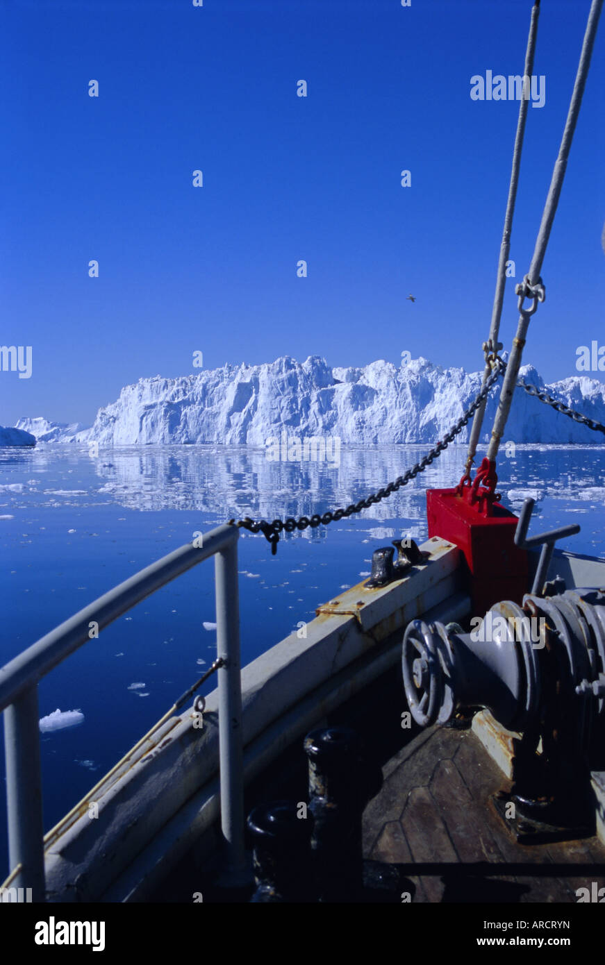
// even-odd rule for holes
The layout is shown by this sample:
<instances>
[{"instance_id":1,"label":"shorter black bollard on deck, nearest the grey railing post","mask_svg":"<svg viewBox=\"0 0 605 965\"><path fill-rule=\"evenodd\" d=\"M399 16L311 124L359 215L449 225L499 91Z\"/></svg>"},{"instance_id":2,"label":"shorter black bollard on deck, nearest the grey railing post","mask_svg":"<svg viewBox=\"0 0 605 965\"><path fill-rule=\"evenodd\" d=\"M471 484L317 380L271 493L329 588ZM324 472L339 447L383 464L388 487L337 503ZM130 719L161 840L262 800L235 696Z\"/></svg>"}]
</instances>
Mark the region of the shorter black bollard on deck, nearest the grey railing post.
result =
<instances>
[{"instance_id":1,"label":"shorter black bollard on deck, nearest the grey railing post","mask_svg":"<svg viewBox=\"0 0 605 965\"><path fill-rule=\"evenodd\" d=\"M293 801L263 804L249 814L257 885L251 902L316 900L310 874L311 824L306 806Z\"/></svg>"}]
</instances>

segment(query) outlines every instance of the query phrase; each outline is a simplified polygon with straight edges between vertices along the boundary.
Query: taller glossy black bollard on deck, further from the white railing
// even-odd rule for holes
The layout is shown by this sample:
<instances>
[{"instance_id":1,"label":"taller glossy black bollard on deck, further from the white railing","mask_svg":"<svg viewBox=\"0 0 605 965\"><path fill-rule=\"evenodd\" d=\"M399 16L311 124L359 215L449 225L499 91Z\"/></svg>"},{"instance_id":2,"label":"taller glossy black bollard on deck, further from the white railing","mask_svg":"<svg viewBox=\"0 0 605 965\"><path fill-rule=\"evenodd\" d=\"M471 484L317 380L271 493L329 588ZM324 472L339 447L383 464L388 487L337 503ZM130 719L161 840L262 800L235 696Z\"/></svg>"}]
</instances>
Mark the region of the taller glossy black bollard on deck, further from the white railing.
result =
<instances>
[{"instance_id":1,"label":"taller glossy black bollard on deck, further from the white railing","mask_svg":"<svg viewBox=\"0 0 605 965\"><path fill-rule=\"evenodd\" d=\"M311 731L305 737L305 753L309 758L311 850L319 900L359 900L363 888L361 818L369 800L359 737L344 727Z\"/></svg>"}]
</instances>

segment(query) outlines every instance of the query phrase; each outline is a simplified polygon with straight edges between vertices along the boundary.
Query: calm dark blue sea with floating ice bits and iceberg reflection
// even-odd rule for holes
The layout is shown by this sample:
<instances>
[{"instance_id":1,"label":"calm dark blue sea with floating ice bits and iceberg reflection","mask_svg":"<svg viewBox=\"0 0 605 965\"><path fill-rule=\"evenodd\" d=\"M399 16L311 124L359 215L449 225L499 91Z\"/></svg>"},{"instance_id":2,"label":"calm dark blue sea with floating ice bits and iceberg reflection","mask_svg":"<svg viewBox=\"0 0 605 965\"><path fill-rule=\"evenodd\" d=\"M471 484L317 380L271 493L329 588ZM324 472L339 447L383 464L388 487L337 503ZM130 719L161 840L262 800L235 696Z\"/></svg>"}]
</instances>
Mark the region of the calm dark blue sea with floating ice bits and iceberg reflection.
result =
<instances>
[{"instance_id":1,"label":"calm dark blue sea with floating ice bits and iceberg reflection","mask_svg":"<svg viewBox=\"0 0 605 965\"><path fill-rule=\"evenodd\" d=\"M344 449L339 467L269 462L264 450L164 446L0 450L0 664L100 593L225 520L345 507L396 479L425 446ZM371 552L401 534L426 538L426 487L451 486L465 447L357 517L282 538L239 540L242 664L370 572ZM537 500L532 532L579 522L576 552L605 556L605 447L519 446L499 465L503 502ZM213 659L211 562L155 593L41 681L40 714L81 710L77 727L41 734L50 828L148 731ZM136 685L136 686L135 686ZM208 681L206 690L214 682ZM3 750L2 750L3 754ZM1 761L4 784L4 758ZM0 880L7 865L0 795Z\"/></svg>"}]
</instances>

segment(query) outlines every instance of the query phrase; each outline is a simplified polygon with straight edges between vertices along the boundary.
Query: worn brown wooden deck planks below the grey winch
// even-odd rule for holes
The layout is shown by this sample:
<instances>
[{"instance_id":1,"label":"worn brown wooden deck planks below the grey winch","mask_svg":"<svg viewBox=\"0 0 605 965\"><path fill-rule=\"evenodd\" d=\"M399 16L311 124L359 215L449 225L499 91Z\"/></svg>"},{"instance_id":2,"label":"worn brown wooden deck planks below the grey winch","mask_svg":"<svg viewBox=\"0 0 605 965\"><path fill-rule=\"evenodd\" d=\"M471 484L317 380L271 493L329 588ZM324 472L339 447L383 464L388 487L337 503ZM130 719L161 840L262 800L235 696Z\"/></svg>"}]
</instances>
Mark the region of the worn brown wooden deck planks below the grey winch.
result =
<instances>
[{"instance_id":1,"label":"worn brown wooden deck planks below the grey winch","mask_svg":"<svg viewBox=\"0 0 605 965\"><path fill-rule=\"evenodd\" d=\"M596 838L514 841L490 802L491 794L508 786L506 778L472 731L429 728L389 760L383 773L384 786L364 813L366 857L448 866L410 876L413 901L568 903L577 902L576 889L590 890L593 881L605 886L605 847ZM464 870L476 862L493 865L493 871ZM513 866L509 873L499 867L505 865ZM553 867L567 865L580 867L572 874Z\"/></svg>"}]
</instances>

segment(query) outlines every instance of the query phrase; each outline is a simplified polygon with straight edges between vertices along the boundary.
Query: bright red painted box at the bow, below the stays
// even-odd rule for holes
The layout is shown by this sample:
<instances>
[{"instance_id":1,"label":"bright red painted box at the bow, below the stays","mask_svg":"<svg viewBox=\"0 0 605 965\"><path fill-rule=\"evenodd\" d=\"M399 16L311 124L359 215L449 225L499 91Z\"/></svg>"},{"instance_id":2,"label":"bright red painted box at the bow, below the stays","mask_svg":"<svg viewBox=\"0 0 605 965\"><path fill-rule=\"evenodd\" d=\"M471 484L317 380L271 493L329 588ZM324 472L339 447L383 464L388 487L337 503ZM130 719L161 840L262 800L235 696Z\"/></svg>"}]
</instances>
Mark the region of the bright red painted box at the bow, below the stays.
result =
<instances>
[{"instance_id":1,"label":"bright red painted box at the bow, below the stays","mask_svg":"<svg viewBox=\"0 0 605 965\"><path fill-rule=\"evenodd\" d=\"M428 538L455 543L466 561L473 616L482 617L500 600L521 603L529 593L527 551L514 545L517 517L493 503L491 514L470 505L456 489L427 489Z\"/></svg>"}]
</instances>

